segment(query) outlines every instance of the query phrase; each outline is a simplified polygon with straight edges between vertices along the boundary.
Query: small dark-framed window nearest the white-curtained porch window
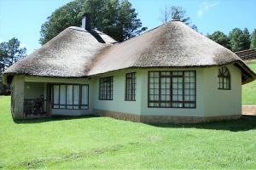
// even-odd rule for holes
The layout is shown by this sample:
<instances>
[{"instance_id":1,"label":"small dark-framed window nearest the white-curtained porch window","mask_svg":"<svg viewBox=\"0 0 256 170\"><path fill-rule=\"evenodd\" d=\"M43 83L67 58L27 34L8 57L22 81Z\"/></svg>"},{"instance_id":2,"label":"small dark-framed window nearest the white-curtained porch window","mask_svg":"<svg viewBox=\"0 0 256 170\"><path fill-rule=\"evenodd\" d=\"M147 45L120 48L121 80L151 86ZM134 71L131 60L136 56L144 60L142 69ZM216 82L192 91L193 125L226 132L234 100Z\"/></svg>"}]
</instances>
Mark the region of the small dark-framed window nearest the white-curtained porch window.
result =
<instances>
[{"instance_id":1,"label":"small dark-framed window nearest the white-curtained porch window","mask_svg":"<svg viewBox=\"0 0 256 170\"><path fill-rule=\"evenodd\" d=\"M113 100L113 77L100 78L99 99Z\"/></svg>"}]
</instances>

